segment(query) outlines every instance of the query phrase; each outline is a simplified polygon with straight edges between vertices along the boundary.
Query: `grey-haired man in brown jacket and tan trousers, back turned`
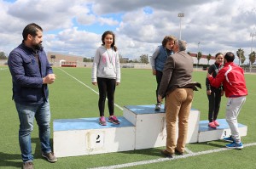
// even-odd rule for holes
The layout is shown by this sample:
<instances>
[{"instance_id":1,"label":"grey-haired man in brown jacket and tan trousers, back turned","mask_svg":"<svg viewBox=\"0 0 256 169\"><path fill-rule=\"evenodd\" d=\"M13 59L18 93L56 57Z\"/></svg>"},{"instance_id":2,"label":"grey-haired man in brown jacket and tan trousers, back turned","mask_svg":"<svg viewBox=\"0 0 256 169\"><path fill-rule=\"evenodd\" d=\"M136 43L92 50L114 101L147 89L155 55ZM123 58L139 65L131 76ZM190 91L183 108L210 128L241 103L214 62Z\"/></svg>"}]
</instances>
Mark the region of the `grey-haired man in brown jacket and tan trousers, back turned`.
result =
<instances>
[{"instance_id":1,"label":"grey-haired man in brown jacket and tan trousers, back turned","mask_svg":"<svg viewBox=\"0 0 256 169\"><path fill-rule=\"evenodd\" d=\"M172 48L175 54L166 59L160 82L158 99L166 98L166 149L162 155L183 155L188 134L189 112L198 82L192 82L193 59L186 53L187 43L176 40ZM178 119L178 137L176 123Z\"/></svg>"}]
</instances>

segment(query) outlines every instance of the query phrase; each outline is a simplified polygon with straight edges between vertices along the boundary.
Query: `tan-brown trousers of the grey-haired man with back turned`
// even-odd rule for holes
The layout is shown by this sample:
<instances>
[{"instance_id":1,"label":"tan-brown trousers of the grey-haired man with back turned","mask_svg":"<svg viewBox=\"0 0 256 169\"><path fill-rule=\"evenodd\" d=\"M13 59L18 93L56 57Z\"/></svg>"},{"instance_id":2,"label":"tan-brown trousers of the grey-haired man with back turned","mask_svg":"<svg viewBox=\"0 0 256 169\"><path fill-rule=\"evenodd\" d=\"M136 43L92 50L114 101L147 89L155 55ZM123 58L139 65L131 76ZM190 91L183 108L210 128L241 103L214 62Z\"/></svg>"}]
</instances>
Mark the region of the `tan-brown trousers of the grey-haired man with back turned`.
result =
<instances>
[{"instance_id":1,"label":"tan-brown trousers of the grey-haired man with back turned","mask_svg":"<svg viewBox=\"0 0 256 169\"><path fill-rule=\"evenodd\" d=\"M166 150L184 152L188 134L189 112L194 92L192 88L177 88L166 96ZM176 122L178 138L176 143Z\"/></svg>"}]
</instances>

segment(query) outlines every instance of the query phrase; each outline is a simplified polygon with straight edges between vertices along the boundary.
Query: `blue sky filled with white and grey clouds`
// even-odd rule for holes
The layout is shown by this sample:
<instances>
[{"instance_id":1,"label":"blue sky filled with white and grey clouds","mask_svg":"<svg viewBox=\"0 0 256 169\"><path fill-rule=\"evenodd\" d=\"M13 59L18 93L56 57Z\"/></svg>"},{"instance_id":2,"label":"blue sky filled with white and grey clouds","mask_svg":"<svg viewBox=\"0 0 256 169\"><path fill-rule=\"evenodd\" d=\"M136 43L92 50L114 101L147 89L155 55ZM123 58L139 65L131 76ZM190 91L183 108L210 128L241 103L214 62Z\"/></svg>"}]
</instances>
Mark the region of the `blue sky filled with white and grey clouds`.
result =
<instances>
[{"instance_id":1,"label":"blue sky filled with white and grey clouds","mask_svg":"<svg viewBox=\"0 0 256 169\"><path fill-rule=\"evenodd\" d=\"M115 33L119 54L129 59L151 56L168 35L181 36L190 53L242 48L245 63L256 50L254 0L0 0L0 15L0 51L7 55L32 22L44 29L46 52L86 58L94 56L104 31Z\"/></svg>"}]
</instances>

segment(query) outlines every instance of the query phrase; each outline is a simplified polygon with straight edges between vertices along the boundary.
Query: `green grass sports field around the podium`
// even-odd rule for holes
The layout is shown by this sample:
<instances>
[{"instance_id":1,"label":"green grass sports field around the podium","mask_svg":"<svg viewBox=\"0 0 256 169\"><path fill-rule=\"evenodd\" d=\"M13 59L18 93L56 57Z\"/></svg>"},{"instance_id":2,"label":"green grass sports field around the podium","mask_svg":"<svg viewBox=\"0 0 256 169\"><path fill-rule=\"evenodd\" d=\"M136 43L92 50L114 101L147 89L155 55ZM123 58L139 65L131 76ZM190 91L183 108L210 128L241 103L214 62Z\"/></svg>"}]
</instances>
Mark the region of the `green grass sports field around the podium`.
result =
<instances>
[{"instance_id":1,"label":"green grass sports field around the podium","mask_svg":"<svg viewBox=\"0 0 256 169\"><path fill-rule=\"evenodd\" d=\"M65 70L67 73L65 73ZM57 79L49 85L49 101L51 121L54 119L74 119L96 117L98 95L90 88L97 90L90 82L91 70L88 68L54 68ZM195 92L192 107L201 111L201 120L207 120L208 100L205 87L206 71L195 71L193 78L201 82L202 89ZM75 80L73 77L77 80ZM247 125L247 136L242 137L243 144L256 143L256 75L246 75L248 96L238 121ZM84 86L87 85L88 87ZM122 69L121 84L116 88L115 103L120 106L155 104L156 82L151 70ZM20 146L18 141L19 120L12 98L12 83L8 67L0 66L0 168L20 168ZM223 97L218 118L224 118L226 99ZM108 106L106 106L108 112ZM122 110L115 108L116 115L122 115ZM106 113L108 115L108 113ZM52 125L52 124L51 124ZM224 143L216 140L208 143L187 144L193 153L223 148ZM94 168L101 166L121 165L139 161L153 161L162 159L160 149L140 149L133 151L109 153L102 155L84 155L59 158L56 163L50 164L40 155L38 127L34 125L32 132L32 153L35 168ZM242 150L229 149L212 152L205 155L189 156L176 160L160 161L152 164L130 166L127 168L256 168L256 145L246 146ZM147 162L146 162L147 163Z\"/></svg>"}]
</instances>

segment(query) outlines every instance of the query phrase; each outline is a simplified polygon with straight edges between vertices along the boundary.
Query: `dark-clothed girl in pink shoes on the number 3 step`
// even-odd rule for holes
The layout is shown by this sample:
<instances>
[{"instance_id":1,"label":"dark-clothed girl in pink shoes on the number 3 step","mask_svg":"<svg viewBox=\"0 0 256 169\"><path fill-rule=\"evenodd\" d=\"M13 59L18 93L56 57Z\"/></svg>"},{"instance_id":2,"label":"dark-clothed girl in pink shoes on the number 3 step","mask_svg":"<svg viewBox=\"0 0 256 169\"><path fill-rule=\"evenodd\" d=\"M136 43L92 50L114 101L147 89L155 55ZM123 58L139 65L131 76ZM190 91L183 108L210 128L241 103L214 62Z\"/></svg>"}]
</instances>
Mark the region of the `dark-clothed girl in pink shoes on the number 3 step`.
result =
<instances>
[{"instance_id":1,"label":"dark-clothed girl in pink shoes on the number 3 step","mask_svg":"<svg viewBox=\"0 0 256 169\"><path fill-rule=\"evenodd\" d=\"M223 64L224 55L218 53L215 55L215 63L210 65L208 68L208 73L215 78L218 74L218 70L221 69L221 65ZM220 107L221 96L224 95L222 87L212 87L208 78L206 79L207 86L207 98L209 100L209 110L208 110L208 126L211 128L216 128L219 126L217 121L218 111Z\"/></svg>"}]
</instances>

